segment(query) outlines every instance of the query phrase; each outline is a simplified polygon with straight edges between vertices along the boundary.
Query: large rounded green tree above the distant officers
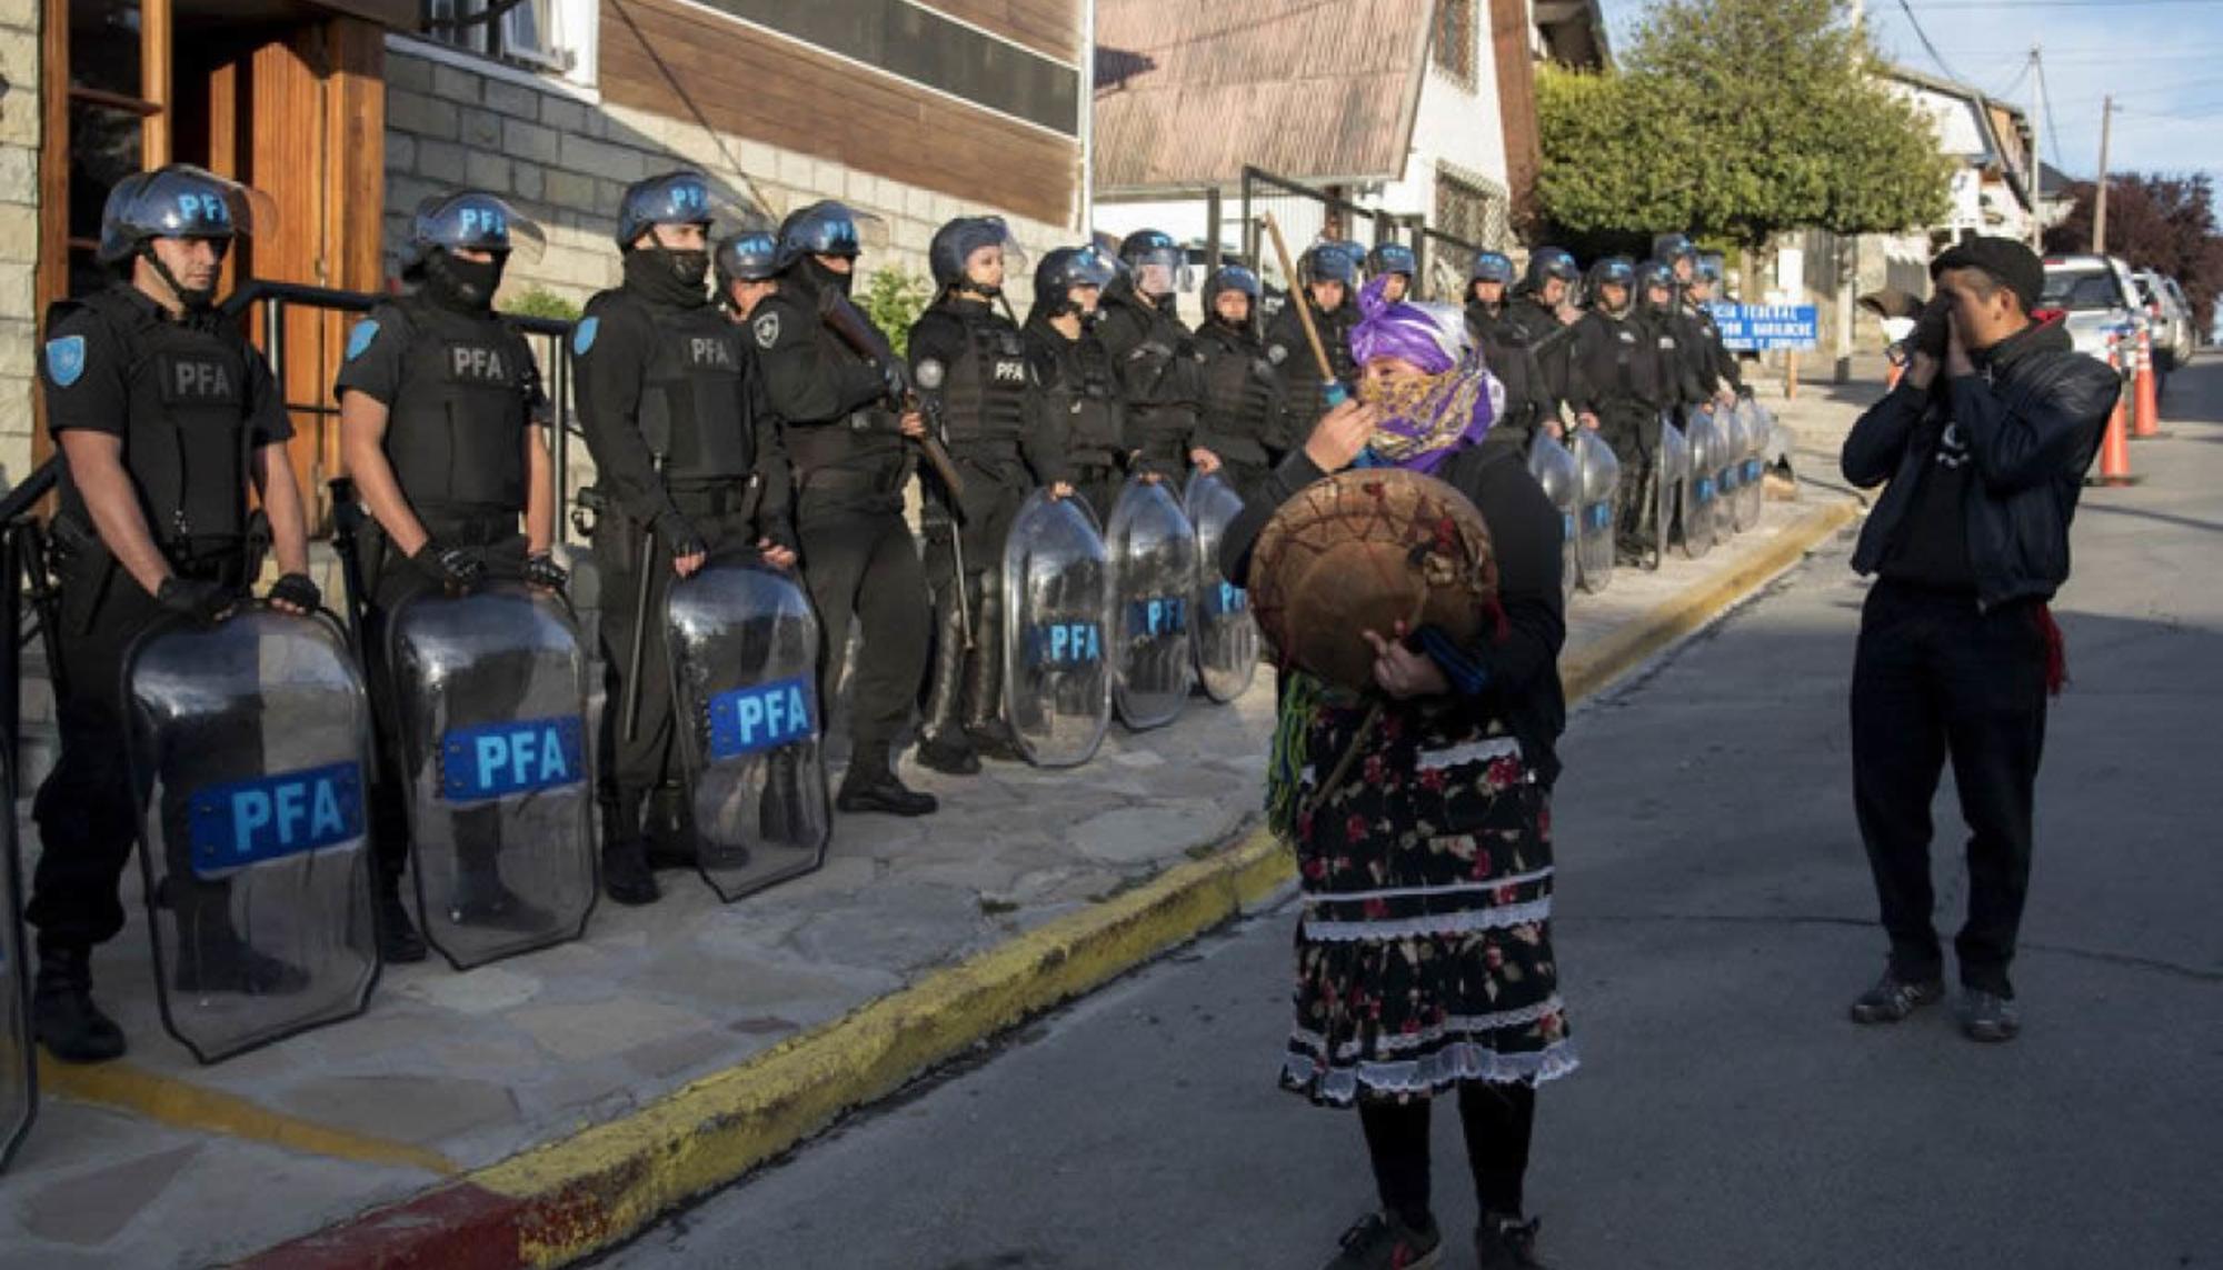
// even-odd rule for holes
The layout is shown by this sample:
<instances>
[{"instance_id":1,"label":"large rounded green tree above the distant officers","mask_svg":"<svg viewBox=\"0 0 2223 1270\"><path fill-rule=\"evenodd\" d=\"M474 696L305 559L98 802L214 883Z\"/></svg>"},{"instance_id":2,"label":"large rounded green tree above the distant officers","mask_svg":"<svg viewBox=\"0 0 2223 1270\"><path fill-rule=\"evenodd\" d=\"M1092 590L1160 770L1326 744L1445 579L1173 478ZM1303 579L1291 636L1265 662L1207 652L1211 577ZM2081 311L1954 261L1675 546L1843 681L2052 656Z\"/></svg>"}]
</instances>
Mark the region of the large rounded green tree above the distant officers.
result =
<instances>
[{"instance_id":1,"label":"large rounded green tree above the distant officers","mask_svg":"<svg viewBox=\"0 0 2223 1270\"><path fill-rule=\"evenodd\" d=\"M1576 233L1747 251L1941 220L1954 164L1876 64L1843 0L1661 0L1621 73L1538 78L1538 204Z\"/></svg>"}]
</instances>

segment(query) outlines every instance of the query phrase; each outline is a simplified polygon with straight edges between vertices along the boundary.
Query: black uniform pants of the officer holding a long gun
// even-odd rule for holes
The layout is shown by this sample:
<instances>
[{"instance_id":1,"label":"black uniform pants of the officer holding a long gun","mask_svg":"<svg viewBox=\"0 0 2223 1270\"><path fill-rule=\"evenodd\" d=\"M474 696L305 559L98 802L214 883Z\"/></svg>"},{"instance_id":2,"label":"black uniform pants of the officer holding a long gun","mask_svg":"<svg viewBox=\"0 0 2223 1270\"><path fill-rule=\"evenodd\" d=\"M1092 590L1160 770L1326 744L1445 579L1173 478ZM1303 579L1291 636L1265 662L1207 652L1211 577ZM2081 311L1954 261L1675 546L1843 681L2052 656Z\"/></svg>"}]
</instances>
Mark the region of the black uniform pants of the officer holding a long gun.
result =
<instances>
[{"instance_id":1,"label":"black uniform pants of the officer holding a long gun","mask_svg":"<svg viewBox=\"0 0 2223 1270\"><path fill-rule=\"evenodd\" d=\"M934 631L918 540L900 511L811 515L807 502L796 535L803 540L803 584L823 633L818 699L834 702L854 615L865 644L849 691L849 733L858 757L885 764L887 748L911 722Z\"/></svg>"}]
</instances>

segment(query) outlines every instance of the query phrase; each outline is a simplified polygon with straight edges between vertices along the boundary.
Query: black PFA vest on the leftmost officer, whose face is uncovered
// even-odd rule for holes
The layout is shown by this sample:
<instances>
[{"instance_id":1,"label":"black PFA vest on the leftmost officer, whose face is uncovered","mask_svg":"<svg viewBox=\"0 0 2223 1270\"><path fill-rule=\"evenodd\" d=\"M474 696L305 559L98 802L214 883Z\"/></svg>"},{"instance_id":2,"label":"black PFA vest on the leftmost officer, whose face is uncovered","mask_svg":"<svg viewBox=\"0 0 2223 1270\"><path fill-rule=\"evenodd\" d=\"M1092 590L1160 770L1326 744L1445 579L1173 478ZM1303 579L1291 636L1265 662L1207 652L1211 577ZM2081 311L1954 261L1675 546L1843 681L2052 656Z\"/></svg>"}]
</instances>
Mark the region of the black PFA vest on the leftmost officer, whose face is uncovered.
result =
<instances>
[{"instance_id":1,"label":"black PFA vest on the leftmost officer, whose face is uncovered","mask_svg":"<svg viewBox=\"0 0 2223 1270\"><path fill-rule=\"evenodd\" d=\"M213 318L196 324L149 322L129 293L84 300L122 335L131 417L124 471L140 495L147 528L176 564L187 542L247 533L247 373L260 357ZM82 513L82 497L78 500Z\"/></svg>"}]
</instances>

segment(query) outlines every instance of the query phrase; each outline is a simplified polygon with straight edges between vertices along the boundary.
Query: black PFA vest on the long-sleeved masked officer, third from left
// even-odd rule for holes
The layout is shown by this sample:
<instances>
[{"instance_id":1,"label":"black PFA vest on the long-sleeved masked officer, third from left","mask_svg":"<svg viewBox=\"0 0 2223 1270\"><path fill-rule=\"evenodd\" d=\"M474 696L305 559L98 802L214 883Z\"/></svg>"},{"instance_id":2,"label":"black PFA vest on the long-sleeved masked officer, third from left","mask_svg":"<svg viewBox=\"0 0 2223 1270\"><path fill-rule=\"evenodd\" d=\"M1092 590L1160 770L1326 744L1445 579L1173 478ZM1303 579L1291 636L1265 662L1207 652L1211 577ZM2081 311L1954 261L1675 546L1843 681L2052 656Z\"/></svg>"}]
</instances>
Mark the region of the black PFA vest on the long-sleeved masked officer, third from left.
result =
<instances>
[{"instance_id":1,"label":"black PFA vest on the long-sleeved masked officer, third from left","mask_svg":"<svg viewBox=\"0 0 2223 1270\"><path fill-rule=\"evenodd\" d=\"M642 309L656 344L640 382L640 435L662 448L665 480L747 477L756 446L740 329L716 304Z\"/></svg>"}]
</instances>

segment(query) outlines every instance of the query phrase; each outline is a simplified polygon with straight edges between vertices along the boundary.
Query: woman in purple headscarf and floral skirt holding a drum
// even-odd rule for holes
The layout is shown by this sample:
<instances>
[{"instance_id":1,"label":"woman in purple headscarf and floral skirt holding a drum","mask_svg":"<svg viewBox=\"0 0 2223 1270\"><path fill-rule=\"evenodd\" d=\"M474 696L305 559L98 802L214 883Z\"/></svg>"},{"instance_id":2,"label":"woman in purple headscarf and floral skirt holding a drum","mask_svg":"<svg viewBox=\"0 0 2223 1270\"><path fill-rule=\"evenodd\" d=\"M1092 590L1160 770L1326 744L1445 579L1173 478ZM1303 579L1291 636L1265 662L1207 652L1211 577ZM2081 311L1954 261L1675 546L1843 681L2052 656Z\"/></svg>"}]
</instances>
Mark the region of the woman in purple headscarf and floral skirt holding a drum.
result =
<instances>
[{"instance_id":1,"label":"woman in purple headscarf and floral skirt holding a drum","mask_svg":"<svg viewBox=\"0 0 2223 1270\"><path fill-rule=\"evenodd\" d=\"M1436 1263L1427 1121L1452 1092L1483 1212L1478 1259L1538 1266L1521 1195L1536 1086L1576 1066L1549 937L1554 744L1567 719L1561 517L1521 448L1485 442L1498 389L1458 311L1387 302L1374 284L1360 311L1358 402L1272 473L1220 564L1247 584L1252 544L1280 502L1345 466L1403 466L1481 511L1498 591L1472 642L1434 626L1369 631L1365 695L1283 673L1269 810L1296 848L1303 919L1280 1083L1356 1106L1365 1130L1380 1210L1343 1234L1329 1270Z\"/></svg>"}]
</instances>

